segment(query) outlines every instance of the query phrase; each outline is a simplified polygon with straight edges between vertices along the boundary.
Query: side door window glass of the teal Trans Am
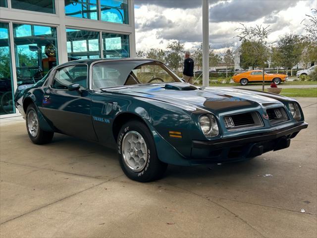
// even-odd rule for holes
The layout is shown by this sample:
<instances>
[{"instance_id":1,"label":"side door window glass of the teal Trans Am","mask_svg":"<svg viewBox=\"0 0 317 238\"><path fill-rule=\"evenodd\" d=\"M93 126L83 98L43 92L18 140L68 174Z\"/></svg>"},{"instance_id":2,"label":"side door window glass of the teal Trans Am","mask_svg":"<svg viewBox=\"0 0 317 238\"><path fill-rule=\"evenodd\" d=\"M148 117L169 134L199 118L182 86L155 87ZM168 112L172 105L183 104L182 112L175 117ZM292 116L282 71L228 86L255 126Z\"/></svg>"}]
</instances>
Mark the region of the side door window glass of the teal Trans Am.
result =
<instances>
[{"instance_id":1,"label":"side door window glass of the teal Trans Am","mask_svg":"<svg viewBox=\"0 0 317 238\"><path fill-rule=\"evenodd\" d=\"M87 65L76 64L57 69L51 87L55 89L67 89L69 85L79 83L87 88Z\"/></svg>"}]
</instances>

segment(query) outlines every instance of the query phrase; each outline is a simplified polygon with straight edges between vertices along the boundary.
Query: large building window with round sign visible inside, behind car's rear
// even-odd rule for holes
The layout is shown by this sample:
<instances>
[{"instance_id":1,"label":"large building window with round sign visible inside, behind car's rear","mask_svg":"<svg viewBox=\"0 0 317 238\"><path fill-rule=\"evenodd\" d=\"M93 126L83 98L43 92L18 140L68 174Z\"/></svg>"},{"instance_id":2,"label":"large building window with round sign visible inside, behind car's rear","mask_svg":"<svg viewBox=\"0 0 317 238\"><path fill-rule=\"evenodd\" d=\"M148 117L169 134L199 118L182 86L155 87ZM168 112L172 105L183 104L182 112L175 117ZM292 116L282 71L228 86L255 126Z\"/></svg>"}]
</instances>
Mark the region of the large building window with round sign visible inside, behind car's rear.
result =
<instances>
[{"instance_id":1,"label":"large building window with round sign visible inside, behind car's rear","mask_svg":"<svg viewBox=\"0 0 317 238\"><path fill-rule=\"evenodd\" d=\"M56 28L13 23L17 84L39 81L58 64Z\"/></svg>"}]
</instances>

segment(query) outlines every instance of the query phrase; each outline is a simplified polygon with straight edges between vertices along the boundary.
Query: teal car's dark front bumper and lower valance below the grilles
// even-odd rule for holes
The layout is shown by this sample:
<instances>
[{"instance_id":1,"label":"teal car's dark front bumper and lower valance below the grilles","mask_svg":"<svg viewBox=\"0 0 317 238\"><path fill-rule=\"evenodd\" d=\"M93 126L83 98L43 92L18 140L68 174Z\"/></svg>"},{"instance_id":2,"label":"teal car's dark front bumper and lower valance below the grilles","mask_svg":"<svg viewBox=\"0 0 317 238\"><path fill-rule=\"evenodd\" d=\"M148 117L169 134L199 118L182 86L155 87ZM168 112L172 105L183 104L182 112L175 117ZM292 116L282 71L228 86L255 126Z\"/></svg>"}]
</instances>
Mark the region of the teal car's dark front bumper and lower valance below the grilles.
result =
<instances>
[{"instance_id":1,"label":"teal car's dark front bumper and lower valance below the grilles","mask_svg":"<svg viewBox=\"0 0 317 238\"><path fill-rule=\"evenodd\" d=\"M211 141L192 141L192 165L245 160L271 150L289 147L290 139L307 128L306 122L270 132Z\"/></svg>"}]
</instances>

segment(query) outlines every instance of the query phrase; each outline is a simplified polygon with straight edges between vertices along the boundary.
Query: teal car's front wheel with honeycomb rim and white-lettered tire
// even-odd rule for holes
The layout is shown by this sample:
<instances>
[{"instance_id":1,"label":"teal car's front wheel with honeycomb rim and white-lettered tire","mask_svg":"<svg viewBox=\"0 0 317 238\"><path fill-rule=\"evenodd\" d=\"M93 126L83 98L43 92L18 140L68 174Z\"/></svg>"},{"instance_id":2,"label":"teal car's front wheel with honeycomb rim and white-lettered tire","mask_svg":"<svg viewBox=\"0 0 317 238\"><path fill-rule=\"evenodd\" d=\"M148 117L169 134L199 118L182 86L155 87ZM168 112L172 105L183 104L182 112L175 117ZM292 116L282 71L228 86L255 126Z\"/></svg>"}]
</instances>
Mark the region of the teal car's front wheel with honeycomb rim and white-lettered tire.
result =
<instances>
[{"instance_id":1,"label":"teal car's front wheel with honeycomb rim and white-lettered tire","mask_svg":"<svg viewBox=\"0 0 317 238\"><path fill-rule=\"evenodd\" d=\"M124 124L117 146L120 166L128 178L149 182L164 175L167 164L159 160L153 136L144 123L133 120Z\"/></svg>"}]
</instances>

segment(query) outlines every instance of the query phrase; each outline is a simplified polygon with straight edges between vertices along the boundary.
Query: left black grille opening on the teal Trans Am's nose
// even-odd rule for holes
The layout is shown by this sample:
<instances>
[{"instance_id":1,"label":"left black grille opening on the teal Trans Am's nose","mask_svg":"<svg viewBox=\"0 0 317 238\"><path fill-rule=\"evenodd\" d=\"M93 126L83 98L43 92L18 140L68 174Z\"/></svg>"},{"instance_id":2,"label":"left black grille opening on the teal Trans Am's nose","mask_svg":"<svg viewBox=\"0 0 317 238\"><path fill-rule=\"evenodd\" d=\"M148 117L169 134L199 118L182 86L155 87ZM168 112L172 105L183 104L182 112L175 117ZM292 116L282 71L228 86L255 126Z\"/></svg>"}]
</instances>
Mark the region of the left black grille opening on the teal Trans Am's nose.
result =
<instances>
[{"instance_id":1,"label":"left black grille opening on the teal Trans Am's nose","mask_svg":"<svg viewBox=\"0 0 317 238\"><path fill-rule=\"evenodd\" d=\"M263 126L257 112L228 115L223 118L227 130L238 130Z\"/></svg>"}]
</instances>

